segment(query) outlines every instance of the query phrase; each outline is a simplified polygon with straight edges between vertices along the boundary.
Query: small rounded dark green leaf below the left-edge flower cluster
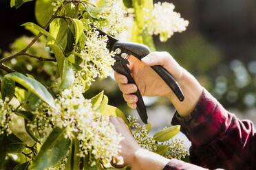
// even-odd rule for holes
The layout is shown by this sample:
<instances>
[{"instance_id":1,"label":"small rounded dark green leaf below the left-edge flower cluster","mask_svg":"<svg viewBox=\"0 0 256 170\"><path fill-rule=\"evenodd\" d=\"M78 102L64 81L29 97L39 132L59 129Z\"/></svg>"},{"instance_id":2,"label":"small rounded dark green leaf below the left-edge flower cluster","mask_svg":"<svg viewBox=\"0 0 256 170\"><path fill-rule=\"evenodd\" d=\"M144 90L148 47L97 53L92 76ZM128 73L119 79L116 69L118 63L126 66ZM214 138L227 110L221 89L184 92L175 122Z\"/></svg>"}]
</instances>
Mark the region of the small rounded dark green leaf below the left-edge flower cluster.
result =
<instances>
[{"instance_id":1,"label":"small rounded dark green leaf below the left-edge flower cluster","mask_svg":"<svg viewBox=\"0 0 256 170\"><path fill-rule=\"evenodd\" d=\"M8 154L19 154L25 149L25 143L21 139L17 138L14 134L6 136L6 153Z\"/></svg>"}]
</instances>

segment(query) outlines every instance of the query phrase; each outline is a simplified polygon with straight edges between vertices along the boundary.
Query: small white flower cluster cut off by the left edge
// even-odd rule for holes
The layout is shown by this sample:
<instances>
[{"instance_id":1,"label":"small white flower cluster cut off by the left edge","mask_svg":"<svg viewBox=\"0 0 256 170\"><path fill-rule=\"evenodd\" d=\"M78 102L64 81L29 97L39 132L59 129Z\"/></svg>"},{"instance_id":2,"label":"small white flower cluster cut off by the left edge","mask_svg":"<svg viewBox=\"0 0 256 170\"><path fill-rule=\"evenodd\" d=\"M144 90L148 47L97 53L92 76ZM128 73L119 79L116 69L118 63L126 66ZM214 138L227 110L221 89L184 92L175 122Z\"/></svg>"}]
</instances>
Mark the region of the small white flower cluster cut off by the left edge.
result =
<instances>
[{"instance_id":1,"label":"small white flower cluster cut off by the left edge","mask_svg":"<svg viewBox=\"0 0 256 170\"><path fill-rule=\"evenodd\" d=\"M8 101L8 97L6 97L5 100L0 99L0 135L4 133L6 133L6 135L12 134L9 127L12 106L8 104Z\"/></svg>"}]
</instances>

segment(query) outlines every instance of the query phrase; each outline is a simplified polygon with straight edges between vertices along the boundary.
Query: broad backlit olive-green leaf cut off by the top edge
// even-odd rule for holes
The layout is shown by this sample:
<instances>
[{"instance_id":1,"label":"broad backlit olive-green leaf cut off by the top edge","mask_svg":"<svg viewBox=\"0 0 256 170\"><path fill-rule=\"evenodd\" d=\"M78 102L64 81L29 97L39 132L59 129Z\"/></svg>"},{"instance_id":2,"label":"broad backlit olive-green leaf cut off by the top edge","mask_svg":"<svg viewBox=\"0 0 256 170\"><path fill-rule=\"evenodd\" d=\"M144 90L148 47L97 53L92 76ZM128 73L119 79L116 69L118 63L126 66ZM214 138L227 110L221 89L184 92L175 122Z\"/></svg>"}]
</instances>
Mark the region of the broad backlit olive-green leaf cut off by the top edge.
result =
<instances>
[{"instance_id":1,"label":"broad backlit olive-green leaf cut off by the top edge","mask_svg":"<svg viewBox=\"0 0 256 170\"><path fill-rule=\"evenodd\" d=\"M54 14L54 6L52 5L52 0L36 0L34 12L36 21L42 27L45 27L48 21L50 21L52 14Z\"/></svg>"}]
</instances>

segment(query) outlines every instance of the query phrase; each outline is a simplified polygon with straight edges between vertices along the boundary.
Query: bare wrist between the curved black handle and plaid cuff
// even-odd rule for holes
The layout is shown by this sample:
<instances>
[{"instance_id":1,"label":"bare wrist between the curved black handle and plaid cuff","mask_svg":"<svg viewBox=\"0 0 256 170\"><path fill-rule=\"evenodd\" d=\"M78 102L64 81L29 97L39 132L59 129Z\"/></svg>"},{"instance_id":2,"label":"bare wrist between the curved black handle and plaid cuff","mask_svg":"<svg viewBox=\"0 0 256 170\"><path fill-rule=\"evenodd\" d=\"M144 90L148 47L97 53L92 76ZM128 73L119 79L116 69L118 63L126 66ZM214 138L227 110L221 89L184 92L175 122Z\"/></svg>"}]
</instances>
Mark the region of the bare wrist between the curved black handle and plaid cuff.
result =
<instances>
[{"instance_id":1,"label":"bare wrist between the curved black handle and plaid cuff","mask_svg":"<svg viewBox=\"0 0 256 170\"><path fill-rule=\"evenodd\" d=\"M202 95L203 88L198 80L196 80L195 77L185 69L182 69L182 76L180 77L180 80L178 80L178 84L184 93L184 101L179 101L173 93L169 93L167 97L171 100L171 103L180 116L186 117L198 103L200 96Z\"/></svg>"}]
</instances>

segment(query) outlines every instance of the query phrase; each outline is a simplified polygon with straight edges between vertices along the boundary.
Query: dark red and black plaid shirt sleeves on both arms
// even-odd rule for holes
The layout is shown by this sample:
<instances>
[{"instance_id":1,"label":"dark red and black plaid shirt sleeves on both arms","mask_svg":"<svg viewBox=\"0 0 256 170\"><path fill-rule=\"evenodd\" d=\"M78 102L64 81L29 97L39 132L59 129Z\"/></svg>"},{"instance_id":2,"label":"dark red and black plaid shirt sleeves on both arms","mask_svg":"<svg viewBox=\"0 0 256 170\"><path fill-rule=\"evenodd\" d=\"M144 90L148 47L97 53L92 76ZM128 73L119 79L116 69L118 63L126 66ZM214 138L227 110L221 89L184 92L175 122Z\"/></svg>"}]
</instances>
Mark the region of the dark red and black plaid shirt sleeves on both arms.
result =
<instances>
[{"instance_id":1,"label":"dark red and black plaid shirt sleeves on both arms","mask_svg":"<svg viewBox=\"0 0 256 170\"><path fill-rule=\"evenodd\" d=\"M237 119L206 90L189 117L176 112L171 123L180 124L181 132L191 141L190 160L194 165L172 159L164 170L256 169L253 123Z\"/></svg>"}]
</instances>

